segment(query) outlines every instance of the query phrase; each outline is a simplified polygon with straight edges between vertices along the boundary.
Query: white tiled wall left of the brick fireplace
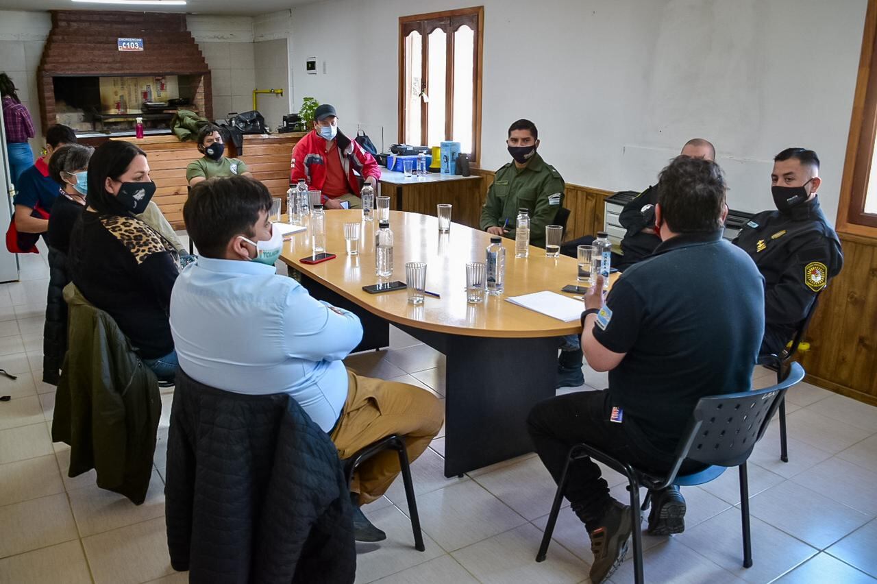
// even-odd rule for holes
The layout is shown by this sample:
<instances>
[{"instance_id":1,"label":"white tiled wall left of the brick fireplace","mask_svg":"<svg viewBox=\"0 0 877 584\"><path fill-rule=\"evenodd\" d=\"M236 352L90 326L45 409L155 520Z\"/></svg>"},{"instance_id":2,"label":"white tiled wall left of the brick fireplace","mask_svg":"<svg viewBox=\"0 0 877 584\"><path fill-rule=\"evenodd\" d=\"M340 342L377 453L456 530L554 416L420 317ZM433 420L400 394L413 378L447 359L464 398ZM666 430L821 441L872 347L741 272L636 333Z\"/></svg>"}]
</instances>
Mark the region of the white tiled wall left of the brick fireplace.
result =
<instances>
[{"instance_id":1,"label":"white tiled wall left of the brick fireplace","mask_svg":"<svg viewBox=\"0 0 877 584\"><path fill-rule=\"evenodd\" d=\"M0 11L0 71L12 78L21 103L31 112L37 135L31 148L37 155L46 144L39 121L37 67L51 29L48 12Z\"/></svg>"}]
</instances>

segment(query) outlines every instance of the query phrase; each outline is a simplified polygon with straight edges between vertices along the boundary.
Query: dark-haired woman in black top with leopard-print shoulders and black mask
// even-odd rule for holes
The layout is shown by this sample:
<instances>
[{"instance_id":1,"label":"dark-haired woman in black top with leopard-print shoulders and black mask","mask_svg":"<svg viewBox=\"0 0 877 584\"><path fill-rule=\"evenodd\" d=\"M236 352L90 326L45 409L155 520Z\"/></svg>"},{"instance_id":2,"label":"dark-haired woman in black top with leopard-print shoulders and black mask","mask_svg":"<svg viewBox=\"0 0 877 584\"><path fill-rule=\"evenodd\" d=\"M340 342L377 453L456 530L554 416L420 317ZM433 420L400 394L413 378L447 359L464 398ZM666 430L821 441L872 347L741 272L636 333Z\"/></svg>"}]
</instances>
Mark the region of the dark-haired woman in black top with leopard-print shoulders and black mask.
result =
<instances>
[{"instance_id":1,"label":"dark-haired woman in black top with leopard-print shoulders and black mask","mask_svg":"<svg viewBox=\"0 0 877 584\"><path fill-rule=\"evenodd\" d=\"M175 246L137 215L155 194L146 153L108 141L89 161L88 207L70 236L68 262L76 288L109 313L160 380L177 368L168 324L180 257Z\"/></svg>"}]
</instances>

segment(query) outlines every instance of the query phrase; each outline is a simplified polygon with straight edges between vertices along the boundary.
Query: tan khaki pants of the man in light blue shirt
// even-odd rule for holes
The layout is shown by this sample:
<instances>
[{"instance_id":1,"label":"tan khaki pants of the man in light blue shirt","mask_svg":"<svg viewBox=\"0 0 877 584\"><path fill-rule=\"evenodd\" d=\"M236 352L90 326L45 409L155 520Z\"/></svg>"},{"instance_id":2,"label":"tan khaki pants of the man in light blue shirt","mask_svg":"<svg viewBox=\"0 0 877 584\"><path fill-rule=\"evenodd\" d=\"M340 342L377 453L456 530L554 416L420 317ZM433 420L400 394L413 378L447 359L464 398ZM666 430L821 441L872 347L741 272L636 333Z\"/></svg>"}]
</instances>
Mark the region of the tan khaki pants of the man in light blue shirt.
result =
<instances>
[{"instance_id":1,"label":"tan khaki pants of the man in light blue shirt","mask_svg":"<svg viewBox=\"0 0 877 584\"><path fill-rule=\"evenodd\" d=\"M341 459L349 459L367 445L399 434L405 438L408 459L414 462L445 420L439 398L407 383L361 377L347 370L347 401L332 442ZM367 459L353 474L351 492L360 494L360 504L379 499L400 472L399 455L387 450Z\"/></svg>"}]
</instances>

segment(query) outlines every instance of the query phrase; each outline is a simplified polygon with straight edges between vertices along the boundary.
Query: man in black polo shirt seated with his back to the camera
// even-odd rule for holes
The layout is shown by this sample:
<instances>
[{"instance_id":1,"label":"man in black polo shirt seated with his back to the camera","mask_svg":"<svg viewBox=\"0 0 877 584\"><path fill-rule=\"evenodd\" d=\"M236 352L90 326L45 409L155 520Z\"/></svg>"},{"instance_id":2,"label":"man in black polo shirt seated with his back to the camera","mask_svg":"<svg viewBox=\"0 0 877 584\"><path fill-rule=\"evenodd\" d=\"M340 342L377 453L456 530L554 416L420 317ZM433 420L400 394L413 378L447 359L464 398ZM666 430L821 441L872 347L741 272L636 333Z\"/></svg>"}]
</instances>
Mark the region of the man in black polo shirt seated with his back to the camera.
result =
<instances>
[{"instance_id":1,"label":"man in black polo shirt seated with his back to the camera","mask_svg":"<svg viewBox=\"0 0 877 584\"><path fill-rule=\"evenodd\" d=\"M605 306L602 281L585 296L581 347L588 365L610 372L609 388L560 395L531 410L531 438L555 481L570 447L581 442L667 472L697 401L750 387L764 333L764 278L722 239L724 200L715 162L673 160L660 174L655 206L662 243L624 271ZM696 468L683 464L681 472ZM591 580L601 582L624 558L631 509L610 496L592 460L568 472L567 499L594 552ZM649 532L681 533L679 491L653 497Z\"/></svg>"}]
</instances>

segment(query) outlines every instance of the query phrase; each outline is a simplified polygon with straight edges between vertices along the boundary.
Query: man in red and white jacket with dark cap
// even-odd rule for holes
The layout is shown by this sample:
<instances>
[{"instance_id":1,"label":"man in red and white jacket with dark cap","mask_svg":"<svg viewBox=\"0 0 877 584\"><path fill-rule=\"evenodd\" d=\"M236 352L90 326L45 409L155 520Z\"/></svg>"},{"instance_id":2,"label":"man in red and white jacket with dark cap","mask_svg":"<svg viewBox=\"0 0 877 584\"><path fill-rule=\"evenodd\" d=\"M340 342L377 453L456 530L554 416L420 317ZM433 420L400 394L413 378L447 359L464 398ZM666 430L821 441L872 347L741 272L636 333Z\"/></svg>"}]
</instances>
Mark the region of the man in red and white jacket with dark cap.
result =
<instances>
[{"instance_id":1,"label":"man in red and white jacket with dark cap","mask_svg":"<svg viewBox=\"0 0 877 584\"><path fill-rule=\"evenodd\" d=\"M377 186L381 169L356 140L338 129L338 114L328 103L317 107L314 129L292 149L292 183L304 179L308 187L323 191L326 209L360 209L360 181ZM375 191L376 192L376 191Z\"/></svg>"}]
</instances>

